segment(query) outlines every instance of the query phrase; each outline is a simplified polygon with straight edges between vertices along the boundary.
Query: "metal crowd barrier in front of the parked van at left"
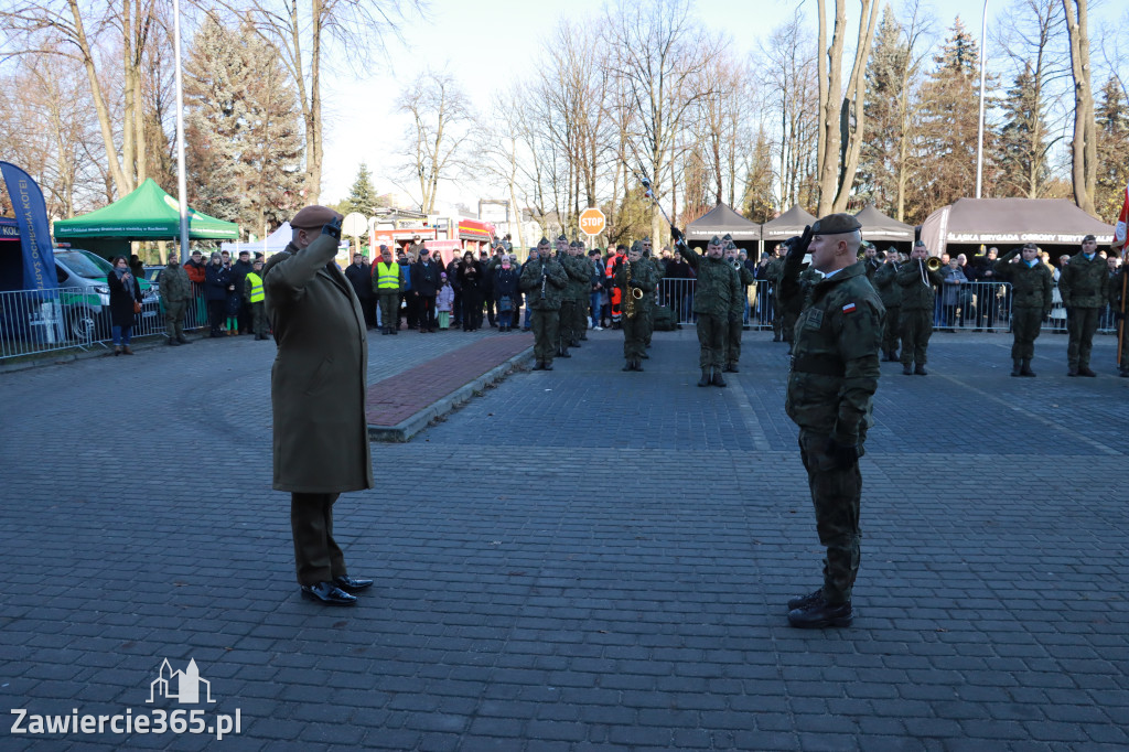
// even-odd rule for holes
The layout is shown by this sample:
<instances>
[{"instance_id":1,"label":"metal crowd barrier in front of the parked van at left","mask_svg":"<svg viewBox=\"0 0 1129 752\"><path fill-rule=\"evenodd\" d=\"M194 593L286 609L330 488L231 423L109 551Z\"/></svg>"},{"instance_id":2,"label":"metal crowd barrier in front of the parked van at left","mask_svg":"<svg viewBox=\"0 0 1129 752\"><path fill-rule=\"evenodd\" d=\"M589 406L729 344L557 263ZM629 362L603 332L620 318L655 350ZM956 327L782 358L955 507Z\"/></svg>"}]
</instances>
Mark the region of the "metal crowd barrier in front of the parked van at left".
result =
<instances>
[{"instance_id":1,"label":"metal crowd barrier in front of the parked van at left","mask_svg":"<svg viewBox=\"0 0 1129 752\"><path fill-rule=\"evenodd\" d=\"M208 325L202 286L193 285L184 329ZM85 287L0 292L0 360L18 356L89 349L112 341L110 296ZM134 315L132 336L165 333L165 305L157 287L147 290Z\"/></svg>"}]
</instances>

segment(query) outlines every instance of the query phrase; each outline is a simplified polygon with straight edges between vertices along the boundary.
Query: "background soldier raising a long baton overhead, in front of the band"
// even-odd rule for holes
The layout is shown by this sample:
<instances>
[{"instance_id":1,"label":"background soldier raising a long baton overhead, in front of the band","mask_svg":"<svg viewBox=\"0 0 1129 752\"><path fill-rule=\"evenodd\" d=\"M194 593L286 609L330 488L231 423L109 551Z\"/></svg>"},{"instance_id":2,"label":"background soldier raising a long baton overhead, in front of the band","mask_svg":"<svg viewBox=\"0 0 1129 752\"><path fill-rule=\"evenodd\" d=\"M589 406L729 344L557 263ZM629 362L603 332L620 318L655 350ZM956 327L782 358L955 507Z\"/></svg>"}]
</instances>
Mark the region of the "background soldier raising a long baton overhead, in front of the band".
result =
<instances>
[{"instance_id":1,"label":"background soldier raising a long baton overhead, in front of the band","mask_svg":"<svg viewBox=\"0 0 1129 752\"><path fill-rule=\"evenodd\" d=\"M721 368L725 366L725 330L729 320L729 306L741 295L737 272L725 263L721 238L717 235L706 246L706 255L700 256L686 247L682 230L672 226L671 234L676 241L675 250L697 276L694 313L698 314L700 347L698 365L702 369L698 386L726 386L725 377L721 376Z\"/></svg>"}]
</instances>

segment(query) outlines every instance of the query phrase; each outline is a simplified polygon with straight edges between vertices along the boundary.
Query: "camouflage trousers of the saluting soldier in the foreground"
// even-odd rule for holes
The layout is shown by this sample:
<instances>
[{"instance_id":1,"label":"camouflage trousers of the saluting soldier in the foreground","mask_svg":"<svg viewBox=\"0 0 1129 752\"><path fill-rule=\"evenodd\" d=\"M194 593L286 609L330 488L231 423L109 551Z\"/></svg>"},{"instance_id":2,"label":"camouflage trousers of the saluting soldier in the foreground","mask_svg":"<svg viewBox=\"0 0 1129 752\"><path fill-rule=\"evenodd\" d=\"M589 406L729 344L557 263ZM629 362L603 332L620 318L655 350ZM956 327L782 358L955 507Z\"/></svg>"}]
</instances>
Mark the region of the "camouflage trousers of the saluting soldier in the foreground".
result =
<instances>
[{"instance_id":1,"label":"camouflage trousers of the saluting soldier in the foreground","mask_svg":"<svg viewBox=\"0 0 1129 752\"><path fill-rule=\"evenodd\" d=\"M825 434L799 429L799 456L812 490L815 531L828 551L823 560L823 597L829 603L844 603L850 601L861 556L858 517L863 473L858 461L848 467L835 467L825 451L828 439Z\"/></svg>"}]
</instances>

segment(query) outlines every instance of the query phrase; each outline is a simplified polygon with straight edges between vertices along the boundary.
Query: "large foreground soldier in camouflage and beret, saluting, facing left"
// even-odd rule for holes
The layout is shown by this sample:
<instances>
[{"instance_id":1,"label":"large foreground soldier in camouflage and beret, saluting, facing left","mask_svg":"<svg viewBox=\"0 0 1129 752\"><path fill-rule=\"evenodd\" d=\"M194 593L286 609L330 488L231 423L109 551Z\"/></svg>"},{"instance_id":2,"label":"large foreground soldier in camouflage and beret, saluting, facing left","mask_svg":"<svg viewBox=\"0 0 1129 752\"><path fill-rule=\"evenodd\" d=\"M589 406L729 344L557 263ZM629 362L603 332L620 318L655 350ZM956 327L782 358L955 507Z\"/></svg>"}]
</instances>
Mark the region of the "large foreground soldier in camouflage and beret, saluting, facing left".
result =
<instances>
[{"instance_id":1,"label":"large foreground soldier in camouflage and beret, saluting, facing left","mask_svg":"<svg viewBox=\"0 0 1129 752\"><path fill-rule=\"evenodd\" d=\"M850 215L830 215L793 244L786 278L811 250L812 268L824 277L811 288L796 325L788 417L799 426L799 453L807 470L815 527L826 548L823 587L788 602L793 627L847 627L854 619L851 591L859 566L858 460L878 387L878 347L885 309L857 261L860 225ZM800 294L788 285L786 296Z\"/></svg>"}]
</instances>

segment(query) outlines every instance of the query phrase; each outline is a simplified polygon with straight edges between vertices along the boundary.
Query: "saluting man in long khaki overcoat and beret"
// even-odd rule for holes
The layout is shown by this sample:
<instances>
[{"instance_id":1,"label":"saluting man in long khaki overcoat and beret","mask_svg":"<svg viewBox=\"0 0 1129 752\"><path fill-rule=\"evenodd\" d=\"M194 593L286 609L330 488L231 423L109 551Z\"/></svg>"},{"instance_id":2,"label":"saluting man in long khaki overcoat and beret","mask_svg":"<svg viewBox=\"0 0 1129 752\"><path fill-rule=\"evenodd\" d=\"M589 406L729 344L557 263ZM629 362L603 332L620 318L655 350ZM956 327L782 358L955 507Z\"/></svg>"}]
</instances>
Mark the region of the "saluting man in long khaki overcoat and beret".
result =
<instances>
[{"instance_id":1,"label":"saluting man in long khaki overcoat and beret","mask_svg":"<svg viewBox=\"0 0 1129 752\"><path fill-rule=\"evenodd\" d=\"M271 369L274 488L290 492L298 584L305 598L353 605L373 585L350 577L333 540L333 502L373 488L365 384L365 312L333 263L341 215L306 207L294 238L263 270L266 315L278 356Z\"/></svg>"}]
</instances>

